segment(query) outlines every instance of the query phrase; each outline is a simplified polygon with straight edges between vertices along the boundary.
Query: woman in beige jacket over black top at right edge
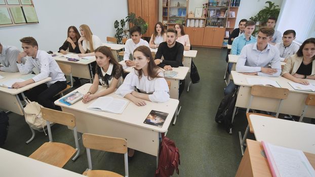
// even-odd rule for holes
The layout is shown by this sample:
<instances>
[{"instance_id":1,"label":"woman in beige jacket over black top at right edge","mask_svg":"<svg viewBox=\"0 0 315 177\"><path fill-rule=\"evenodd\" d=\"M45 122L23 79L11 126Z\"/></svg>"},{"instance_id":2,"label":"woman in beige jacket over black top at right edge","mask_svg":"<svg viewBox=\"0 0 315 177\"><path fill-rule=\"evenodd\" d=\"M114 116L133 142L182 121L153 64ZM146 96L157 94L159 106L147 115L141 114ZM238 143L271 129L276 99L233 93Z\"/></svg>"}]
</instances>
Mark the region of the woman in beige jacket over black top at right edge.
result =
<instances>
[{"instance_id":1,"label":"woman in beige jacket over black top at right edge","mask_svg":"<svg viewBox=\"0 0 315 177\"><path fill-rule=\"evenodd\" d=\"M315 38L306 39L296 55L289 57L281 75L294 82L308 85L306 79L315 79Z\"/></svg>"}]
</instances>

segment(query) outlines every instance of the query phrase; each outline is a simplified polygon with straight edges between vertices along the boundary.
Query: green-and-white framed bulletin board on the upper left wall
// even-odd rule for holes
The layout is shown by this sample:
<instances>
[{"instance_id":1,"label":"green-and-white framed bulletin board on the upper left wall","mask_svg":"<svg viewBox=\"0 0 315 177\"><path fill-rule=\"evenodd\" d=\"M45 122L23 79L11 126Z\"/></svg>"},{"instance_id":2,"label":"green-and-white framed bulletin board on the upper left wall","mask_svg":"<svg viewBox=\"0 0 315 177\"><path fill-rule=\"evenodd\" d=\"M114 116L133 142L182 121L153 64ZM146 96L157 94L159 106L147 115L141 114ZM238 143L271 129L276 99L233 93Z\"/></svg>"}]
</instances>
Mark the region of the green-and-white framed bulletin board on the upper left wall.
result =
<instances>
[{"instance_id":1,"label":"green-and-white framed bulletin board on the upper left wall","mask_svg":"<svg viewBox=\"0 0 315 177\"><path fill-rule=\"evenodd\" d=\"M36 24L32 0L0 0L0 27Z\"/></svg>"}]
</instances>

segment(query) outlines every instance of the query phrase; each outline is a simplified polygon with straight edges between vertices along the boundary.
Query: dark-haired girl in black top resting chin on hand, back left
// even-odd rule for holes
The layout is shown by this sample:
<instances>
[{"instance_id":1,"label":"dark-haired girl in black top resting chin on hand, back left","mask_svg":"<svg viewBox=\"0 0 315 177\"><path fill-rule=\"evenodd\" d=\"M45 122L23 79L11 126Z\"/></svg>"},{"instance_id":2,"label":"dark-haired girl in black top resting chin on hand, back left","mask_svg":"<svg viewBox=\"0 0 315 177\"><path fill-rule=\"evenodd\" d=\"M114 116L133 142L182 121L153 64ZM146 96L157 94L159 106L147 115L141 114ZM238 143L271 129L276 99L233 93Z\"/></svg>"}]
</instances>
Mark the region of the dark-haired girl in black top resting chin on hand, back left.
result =
<instances>
[{"instance_id":1,"label":"dark-haired girl in black top resting chin on hand, back left","mask_svg":"<svg viewBox=\"0 0 315 177\"><path fill-rule=\"evenodd\" d=\"M63 42L63 45L59 48L59 52L67 54L68 52L81 54L78 46L78 39L81 38L80 33L75 26L69 26L67 32L67 39Z\"/></svg>"}]
</instances>

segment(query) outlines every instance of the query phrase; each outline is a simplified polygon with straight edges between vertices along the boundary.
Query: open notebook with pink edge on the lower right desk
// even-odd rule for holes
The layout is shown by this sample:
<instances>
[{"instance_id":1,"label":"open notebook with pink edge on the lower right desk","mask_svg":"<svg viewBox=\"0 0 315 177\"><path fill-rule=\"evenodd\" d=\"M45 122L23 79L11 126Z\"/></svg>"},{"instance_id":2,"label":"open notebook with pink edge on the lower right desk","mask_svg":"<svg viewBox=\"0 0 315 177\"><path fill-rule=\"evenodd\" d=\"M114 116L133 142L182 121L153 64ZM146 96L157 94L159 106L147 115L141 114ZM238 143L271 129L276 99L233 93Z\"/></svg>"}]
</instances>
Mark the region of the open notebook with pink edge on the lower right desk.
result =
<instances>
[{"instance_id":1,"label":"open notebook with pink edge on the lower right desk","mask_svg":"<svg viewBox=\"0 0 315 177\"><path fill-rule=\"evenodd\" d=\"M273 177L315 176L315 170L301 150L261 141Z\"/></svg>"}]
</instances>

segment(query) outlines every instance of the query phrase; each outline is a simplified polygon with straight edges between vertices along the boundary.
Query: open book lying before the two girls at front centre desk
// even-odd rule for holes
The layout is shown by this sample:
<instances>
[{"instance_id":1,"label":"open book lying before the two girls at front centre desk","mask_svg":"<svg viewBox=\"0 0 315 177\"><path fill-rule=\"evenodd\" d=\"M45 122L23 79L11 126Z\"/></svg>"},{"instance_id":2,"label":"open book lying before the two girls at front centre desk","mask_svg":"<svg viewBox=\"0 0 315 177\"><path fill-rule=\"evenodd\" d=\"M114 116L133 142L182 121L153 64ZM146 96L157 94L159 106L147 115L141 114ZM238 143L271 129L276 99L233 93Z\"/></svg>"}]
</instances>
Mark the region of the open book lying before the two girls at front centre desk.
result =
<instances>
[{"instance_id":1,"label":"open book lying before the two girls at front centre desk","mask_svg":"<svg viewBox=\"0 0 315 177\"><path fill-rule=\"evenodd\" d=\"M128 103L129 101L127 100L115 99L112 97L99 97L88 107L88 109L121 114Z\"/></svg>"}]
</instances>

